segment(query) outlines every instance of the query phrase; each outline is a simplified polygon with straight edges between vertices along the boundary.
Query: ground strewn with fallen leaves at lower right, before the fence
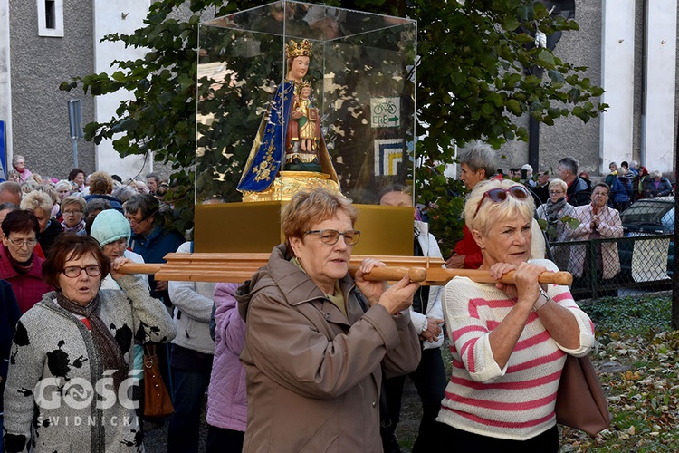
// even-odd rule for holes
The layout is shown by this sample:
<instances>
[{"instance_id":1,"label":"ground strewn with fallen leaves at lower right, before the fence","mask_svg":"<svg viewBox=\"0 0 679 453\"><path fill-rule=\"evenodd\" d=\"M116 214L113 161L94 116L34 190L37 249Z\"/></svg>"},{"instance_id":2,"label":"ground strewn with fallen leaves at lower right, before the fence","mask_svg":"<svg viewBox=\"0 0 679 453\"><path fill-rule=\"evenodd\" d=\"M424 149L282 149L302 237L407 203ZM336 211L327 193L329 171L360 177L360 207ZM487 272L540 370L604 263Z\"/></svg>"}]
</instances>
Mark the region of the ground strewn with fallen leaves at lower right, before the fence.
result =
<instances>
[{"instance_id":1,"label":"ground strewn with fallen leaves at lower right, before the fence","mask_svg":"<svg viewBox=\"0 0 679 453\"><path fill-rule=\"evenodd\" d=\"M679 451L679 331L670 327L671 294L607 297L579 304L597 328L590 357L613 422L596 438L559 426L561 453ZM404 452L415 441L420 414L416 391L409 384L397 428Z\"/></svg>"}]
</instances>

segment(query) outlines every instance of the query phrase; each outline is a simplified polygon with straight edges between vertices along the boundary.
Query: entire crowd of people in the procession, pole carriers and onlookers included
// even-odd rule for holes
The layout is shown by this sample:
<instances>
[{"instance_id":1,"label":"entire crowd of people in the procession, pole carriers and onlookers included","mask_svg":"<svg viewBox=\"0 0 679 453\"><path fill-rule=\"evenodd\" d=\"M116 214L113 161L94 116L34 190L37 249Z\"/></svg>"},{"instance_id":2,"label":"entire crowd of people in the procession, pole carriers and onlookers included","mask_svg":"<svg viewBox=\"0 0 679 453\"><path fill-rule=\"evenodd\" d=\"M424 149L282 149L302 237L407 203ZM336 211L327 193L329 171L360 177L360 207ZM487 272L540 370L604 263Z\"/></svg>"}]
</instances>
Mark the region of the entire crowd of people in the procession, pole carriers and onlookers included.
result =
<instances>
[{"instance_id":1,"label":"entire crowd of people in the procession, pole carriers and onlookers included","mask_svg":"<svg viewBox=\"0 0 679 453\"><path fill-rule=\"evenodd\" d=\"M560 370L594 333L569 287L539 277L568 269L577 284L594 265L606 281L619 260L615 242L594 264L585 246L550 244L622 236L619 212L672 186L643 168L629 177L636 162L611 163L609 183L593 184L572 158L559 160L559 178L533 177L529 165L505 178L482 143L459 159L464 237L446 265L498 281L513 271L514 284L455 277L444 288L405 275L387 286L366 277L384 265L372 258L350 275L358 210L321 188L286 205L284 242L243 284L124 274L193 251L165 224L167 183L81 169L41 178L15 156L0 183L4 451L141 451L144 432L163 426L168 452L198 451L207 394L208 452L399 452L406 376L423 409L414 452L558 451ZM405 186L379 194L381 205L413 209L414 255L441 257L413 201ZM167 419L143 415L145 344L157 345L173 396ZM90 400L76 398L83 382Z\"/></svg>"}]
</instances>

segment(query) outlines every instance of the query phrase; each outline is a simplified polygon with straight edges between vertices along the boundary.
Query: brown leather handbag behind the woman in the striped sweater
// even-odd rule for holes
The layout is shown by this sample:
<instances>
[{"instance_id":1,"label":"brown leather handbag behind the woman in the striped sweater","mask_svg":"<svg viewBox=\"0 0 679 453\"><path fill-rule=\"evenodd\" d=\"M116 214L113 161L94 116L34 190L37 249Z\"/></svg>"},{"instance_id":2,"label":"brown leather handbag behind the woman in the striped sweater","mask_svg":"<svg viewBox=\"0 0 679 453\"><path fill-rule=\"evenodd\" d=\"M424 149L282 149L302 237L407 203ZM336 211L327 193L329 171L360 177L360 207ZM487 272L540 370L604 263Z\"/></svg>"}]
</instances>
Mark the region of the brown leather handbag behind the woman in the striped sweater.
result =
<instances>
[{"instance_id":1,"label":"brown leather handbag behind the woman in the striped sweater","mask_svg":"<svg viewBox=\"0 0 679 453\"><path fill-rule=\"evenodd\" d=\"M554 411L560 424L581 429L590 436L610 426L606 395L588 356L566 356Z\"/></svg>"}]
</instances>

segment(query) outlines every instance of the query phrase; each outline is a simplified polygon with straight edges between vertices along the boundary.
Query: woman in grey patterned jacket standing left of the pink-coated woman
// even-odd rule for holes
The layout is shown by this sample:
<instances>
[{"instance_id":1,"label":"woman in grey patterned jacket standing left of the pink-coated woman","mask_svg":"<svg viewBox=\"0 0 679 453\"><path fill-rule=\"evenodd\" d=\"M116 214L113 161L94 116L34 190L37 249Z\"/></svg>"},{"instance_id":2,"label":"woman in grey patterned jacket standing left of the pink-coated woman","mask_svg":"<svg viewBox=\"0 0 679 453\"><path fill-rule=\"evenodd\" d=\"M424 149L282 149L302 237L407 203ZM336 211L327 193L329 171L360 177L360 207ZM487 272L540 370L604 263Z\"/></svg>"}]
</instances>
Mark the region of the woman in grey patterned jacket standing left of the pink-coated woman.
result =
<instances>
[{"instance_id":1,"label":"woman in grey patterned jacket standing left of the pink-coated woman","mask_svg":"<svg viewBox=\"0 0 679 453\"><path fill-rule=\"evenodd\" d=\"M568 185L563 179L550 181L550 199L536 210L538 218L547 222L547 237L550 243L566 242L573 234L570 219L575 219L575 207L566 200ZM569 264L570 248L568 246L553 246L551 253L559 269L566 269Z\"/></svg>"}]
</instances>

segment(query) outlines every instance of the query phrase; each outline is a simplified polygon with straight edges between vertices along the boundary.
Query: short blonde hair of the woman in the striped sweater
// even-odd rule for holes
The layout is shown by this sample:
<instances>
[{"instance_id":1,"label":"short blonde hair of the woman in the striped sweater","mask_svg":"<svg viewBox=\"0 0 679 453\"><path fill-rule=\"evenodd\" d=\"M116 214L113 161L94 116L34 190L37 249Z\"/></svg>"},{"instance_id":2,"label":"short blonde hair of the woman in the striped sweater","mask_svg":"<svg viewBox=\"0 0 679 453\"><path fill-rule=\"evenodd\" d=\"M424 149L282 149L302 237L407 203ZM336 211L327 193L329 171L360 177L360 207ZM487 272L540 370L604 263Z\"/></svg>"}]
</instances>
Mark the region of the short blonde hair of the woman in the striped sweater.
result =
<instances>
[{"instance_id":1,"label":"short blonde hair of the woman in the striped sweater","mask_svg":"<svg viewBox=\"0 0 679 453\"><path fill-rule=\"evenodd\" d=\"M516 183L511 179L491 179L489 181L482 181L469 194L469 198L464 203L464 223L470 230L479 231L482 236L487 236L491 225L497 222L503 222L508 218L515 218L521 216L529 221L533 217L535 211L535 204L531 194L526 192L528 196L525 199L514 198L508 195L507 199L502 203L493 203L486 200L483 195L488 190L493 188L508 189L513 186L525 188L522 184ZM478 208L479 203L482 203Z\"/></svg>"}]
</instances>

